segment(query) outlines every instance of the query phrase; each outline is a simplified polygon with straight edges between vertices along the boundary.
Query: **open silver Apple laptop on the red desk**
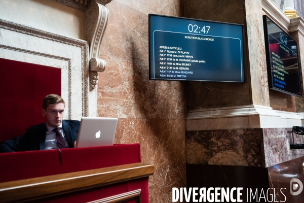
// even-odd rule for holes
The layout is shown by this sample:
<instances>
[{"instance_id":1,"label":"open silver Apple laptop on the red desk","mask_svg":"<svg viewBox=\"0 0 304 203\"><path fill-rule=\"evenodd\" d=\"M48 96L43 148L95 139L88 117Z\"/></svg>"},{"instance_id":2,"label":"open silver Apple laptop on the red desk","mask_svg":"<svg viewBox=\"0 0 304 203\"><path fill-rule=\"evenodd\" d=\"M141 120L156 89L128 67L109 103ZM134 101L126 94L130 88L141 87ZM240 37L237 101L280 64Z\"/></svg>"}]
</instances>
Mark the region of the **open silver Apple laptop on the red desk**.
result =
<instances>
[{"instance_id":1,"label":"open silver Apple laptop on the red desk","mask_svg":"<svg viewBox=\"0 0 304 203\"><path fill-rule=\"evenodd\" d=\"M118 118L82 117L76 148L113 145Z\"/></svg>"}]
</instances>

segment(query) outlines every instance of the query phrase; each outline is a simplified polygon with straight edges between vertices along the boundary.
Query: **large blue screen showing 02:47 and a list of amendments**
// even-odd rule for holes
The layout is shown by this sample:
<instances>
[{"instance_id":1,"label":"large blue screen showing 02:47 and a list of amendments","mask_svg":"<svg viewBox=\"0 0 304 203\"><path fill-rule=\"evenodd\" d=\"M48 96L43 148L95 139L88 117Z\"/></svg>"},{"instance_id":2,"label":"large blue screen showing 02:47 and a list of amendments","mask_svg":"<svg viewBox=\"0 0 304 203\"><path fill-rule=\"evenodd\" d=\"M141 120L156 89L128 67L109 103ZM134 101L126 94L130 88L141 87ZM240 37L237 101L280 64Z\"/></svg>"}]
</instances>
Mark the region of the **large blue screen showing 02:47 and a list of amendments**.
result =
<instances>
[{"instance_id":1,"label":"large blue screen showing 02:47 and a list of amendments","mask_svg":"<svg viewBox=\"0 0 304 203\"><path fill-rule=\"evenodd\" d=\"M244 82L243 25L149 14L149 79Z\"/></svg>"}]
</instances>

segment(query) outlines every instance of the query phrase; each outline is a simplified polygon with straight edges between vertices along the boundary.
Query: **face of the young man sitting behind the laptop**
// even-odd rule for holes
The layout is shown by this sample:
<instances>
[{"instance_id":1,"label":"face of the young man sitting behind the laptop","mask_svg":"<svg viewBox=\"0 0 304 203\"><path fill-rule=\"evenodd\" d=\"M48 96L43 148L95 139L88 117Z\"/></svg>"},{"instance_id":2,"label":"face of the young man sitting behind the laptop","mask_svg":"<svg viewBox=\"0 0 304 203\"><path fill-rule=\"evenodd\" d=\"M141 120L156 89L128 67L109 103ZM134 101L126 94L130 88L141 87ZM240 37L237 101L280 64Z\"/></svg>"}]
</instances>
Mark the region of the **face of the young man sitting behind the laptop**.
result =
<instances>
[{"instance_id":1,"label":"face of the young man sitting behind the laptop","mask_svg":"<svg viewBox=\"0 0 304 203\"><path fill-rule=\"evenodd\" d=\"M63 119L64 104L57 103L49 105L47 109L42 109L42 115L46 117L50 127L58 127Z\"/></svg>"}]
</instances>

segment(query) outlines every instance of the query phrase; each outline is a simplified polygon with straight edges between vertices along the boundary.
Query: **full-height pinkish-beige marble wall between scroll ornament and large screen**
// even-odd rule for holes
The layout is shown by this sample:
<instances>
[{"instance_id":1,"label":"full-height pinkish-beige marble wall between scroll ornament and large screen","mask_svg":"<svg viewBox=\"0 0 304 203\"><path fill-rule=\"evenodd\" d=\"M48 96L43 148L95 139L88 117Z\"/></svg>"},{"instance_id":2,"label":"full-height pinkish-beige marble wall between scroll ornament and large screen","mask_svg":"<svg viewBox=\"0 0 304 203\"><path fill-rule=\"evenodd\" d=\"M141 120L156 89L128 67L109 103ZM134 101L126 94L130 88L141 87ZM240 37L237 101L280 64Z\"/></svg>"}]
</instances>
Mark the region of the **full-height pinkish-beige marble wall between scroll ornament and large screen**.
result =
<instances>
[{"instance_id":1,"label":"full-height pinkish-beige marble wall between scroll ornament and large screen","mask_svg":"<svg viewBox=\"0 0 304 203\"><path fill-rule=\"evenodd\" d=\"M183 16L183 1L123 1L110 12L100 58L98 115L118 117L115 143L140 143L142 161L155 165L150 202L171 202L172 187L185 187L184 84L148 80L148 16Z\"/></svg>"}]
</instances>

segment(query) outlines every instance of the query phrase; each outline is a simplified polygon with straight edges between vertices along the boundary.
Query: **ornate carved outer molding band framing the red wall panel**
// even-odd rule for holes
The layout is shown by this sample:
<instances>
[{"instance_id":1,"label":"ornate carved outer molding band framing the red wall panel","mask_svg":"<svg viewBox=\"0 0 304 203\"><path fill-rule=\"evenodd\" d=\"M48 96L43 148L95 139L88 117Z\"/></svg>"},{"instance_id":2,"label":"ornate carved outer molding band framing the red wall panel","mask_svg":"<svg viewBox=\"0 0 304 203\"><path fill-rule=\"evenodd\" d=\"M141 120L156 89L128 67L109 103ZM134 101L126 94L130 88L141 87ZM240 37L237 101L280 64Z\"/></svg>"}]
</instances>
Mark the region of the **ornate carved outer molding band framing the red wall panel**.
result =
<instances>
[{"instance_id":1,"label":"ornate carved outer molding band framing the red wall panel","mask_svg":"<svg viewBox=\"0 0 304 203\"><path fill-rule=\"evenodd\" d=\"M89 71L89 46L88 42L72 39L64 36L60 36L51 32L43 31L40 29L28 27L25 25L13 23L0 19L0 28L8 29L11 31L16 31L24 33L25 35L30 35L38 38L47 39L50 41L59 42L62 44L67 44L75 47L80 47L82 50L82 116L89 116L89 81L88 81L88 71ZM49 55L51 56L51 55ZM70 78L69 78L70 80ZM70 84L70 81L69 81ZM70 91L70 86L69 86ZM70 99L70 95L69 95ZM69 101L70 102L70 101Z\"/></svg>"}]
</instances>

